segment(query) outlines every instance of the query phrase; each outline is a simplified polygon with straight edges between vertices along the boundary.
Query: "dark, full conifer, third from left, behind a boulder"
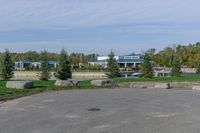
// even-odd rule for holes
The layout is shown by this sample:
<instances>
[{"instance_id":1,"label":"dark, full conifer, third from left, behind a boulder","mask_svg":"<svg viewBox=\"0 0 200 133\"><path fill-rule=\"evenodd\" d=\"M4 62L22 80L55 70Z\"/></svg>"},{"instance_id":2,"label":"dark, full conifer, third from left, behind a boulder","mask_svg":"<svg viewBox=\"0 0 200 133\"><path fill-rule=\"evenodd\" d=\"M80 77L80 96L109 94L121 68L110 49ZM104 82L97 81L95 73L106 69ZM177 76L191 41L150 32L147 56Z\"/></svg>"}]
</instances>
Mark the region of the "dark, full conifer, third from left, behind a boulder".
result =
<instances>
[{"instance_id":1,"label":"dark, full conifer, third from left, behind a boulder","mask_svg":"<svg viewBox=\"0 0 200 133\"><path fill-rule=\"evenodd\" d=\"M62 49L60 53L58 68L55 77L60 80L67 80L72 78L71 63L64 49Z\"/></svg>"}]
</instances>

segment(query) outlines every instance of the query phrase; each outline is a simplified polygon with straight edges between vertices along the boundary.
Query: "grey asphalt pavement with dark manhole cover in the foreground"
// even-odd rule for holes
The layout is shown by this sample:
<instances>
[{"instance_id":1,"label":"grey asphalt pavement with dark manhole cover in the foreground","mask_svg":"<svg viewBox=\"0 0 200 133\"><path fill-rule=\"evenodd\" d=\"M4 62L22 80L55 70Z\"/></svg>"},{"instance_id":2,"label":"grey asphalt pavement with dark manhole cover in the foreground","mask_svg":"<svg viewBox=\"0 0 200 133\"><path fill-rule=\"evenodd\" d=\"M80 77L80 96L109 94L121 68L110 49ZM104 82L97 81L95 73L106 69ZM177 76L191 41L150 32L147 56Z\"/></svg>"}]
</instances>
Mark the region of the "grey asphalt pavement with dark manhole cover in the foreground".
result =
<instances>
[{"instance_id":1,"label":"grey asphalt pavement with dark manhole cover in the foreground","mask_svg":"<svg viewBox=\"0 0 200 133\"><path fill-rule=\"evenodd\" d=\"M99 89L0 104L0 133L199 133L200 93Z\"/></svg>"}]
</instances>

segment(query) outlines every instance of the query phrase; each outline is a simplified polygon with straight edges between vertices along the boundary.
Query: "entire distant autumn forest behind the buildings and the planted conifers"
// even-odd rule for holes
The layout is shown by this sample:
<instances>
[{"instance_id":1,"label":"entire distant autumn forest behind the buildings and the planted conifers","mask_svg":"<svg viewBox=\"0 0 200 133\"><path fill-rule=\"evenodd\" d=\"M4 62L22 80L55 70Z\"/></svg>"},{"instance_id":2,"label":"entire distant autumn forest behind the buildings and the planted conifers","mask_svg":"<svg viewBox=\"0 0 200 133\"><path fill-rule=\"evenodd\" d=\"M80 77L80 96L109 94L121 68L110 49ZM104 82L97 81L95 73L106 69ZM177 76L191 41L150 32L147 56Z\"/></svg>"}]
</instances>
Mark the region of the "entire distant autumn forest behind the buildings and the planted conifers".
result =
<instances>
[{"instance_id":1,"label":"entire distant autumn forest behind the buildings and the planted conifers","mask_svg":"<svg viewBox=\"0 0 200 133\"><path fill-rule=\"evenodd\" d=\"M12 51L10 51L12 52ZM155 48L151 48L144 53L150 55L157 66L171 67L173 59L176 58L180 61L182 66L194 68L200 62L200 42L189 45L176 45L173 47L166 47L161 51L156 51ZM0 53L1 58L2 53ZM57 60L59 54L48 53L48 60ZM73 65L87 64L89 61L97 60L98 54L83 54L83 53L71 53L69 59ZM29 60L40 61L41 53L36 51L28 51L24 53L12 53L13 61Z\"/></svg>"}]
</instances>

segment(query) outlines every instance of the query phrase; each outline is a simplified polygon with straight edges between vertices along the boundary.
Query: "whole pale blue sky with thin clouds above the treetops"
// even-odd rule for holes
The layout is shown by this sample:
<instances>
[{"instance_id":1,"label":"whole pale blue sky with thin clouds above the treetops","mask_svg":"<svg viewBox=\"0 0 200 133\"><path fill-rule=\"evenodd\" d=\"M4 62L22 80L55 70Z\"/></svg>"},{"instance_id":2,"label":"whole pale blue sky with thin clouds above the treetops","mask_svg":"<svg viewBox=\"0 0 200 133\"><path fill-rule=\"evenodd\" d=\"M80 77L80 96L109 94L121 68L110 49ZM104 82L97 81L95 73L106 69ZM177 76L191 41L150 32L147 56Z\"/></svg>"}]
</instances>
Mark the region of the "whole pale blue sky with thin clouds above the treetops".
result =
<instances>
[{"instance_id":1,"label":"whole pale blue sky with thin clouds above the treetops","mask_svg":"<svg viewBox=\"0 0 200 133\"><path fill-rule=\"evenodd\" d=\"M0 51L106 54L200 41L199 0L0 0Z\"/></svg>"}]
</instances>

